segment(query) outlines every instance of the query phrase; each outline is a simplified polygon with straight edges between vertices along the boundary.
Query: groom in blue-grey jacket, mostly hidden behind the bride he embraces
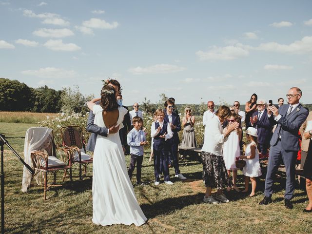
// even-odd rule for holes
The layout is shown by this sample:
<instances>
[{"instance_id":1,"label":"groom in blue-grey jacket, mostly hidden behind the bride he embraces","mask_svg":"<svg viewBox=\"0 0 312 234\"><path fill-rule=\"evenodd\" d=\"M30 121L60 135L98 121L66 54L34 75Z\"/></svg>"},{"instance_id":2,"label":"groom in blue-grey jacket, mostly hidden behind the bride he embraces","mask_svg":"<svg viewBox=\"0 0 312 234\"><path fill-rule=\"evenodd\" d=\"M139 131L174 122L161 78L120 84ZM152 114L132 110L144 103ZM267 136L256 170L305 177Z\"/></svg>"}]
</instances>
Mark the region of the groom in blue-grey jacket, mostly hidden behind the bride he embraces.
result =
<instances>
[{"instance_id":1,"label":"groom in blue-grey jacket, mostly hidden behind the bride he embraces","mask_svg":"<svg viewBox=\"0 0 312 234\"><path fill-rule=\"evenodd\" d=\"M120 92L119 82L116 79L110 79L107 82L108 82L108 85L111 85L112 87L114 87L114 89L116 91L116 97L117 97L118 93ZM96 104L99 104L99 102ZM99 127L98 125L94 124L94 118L95 118L95 115L93 114L93 111L90 111L88 121L87 121L87 131L89 133L91 133L91 135L89 137L86 150L92 151L92 152L94 152L94 148L96 146L98 135L107 137L108 134L117 133L119 130L119 125L118 126L112 126L109 129L104 128L104 127ZM120 135L120 133L119 133L119 135ZM122 144L122 142L121 142L121 144Z\"/></svg>"}]
</instances>

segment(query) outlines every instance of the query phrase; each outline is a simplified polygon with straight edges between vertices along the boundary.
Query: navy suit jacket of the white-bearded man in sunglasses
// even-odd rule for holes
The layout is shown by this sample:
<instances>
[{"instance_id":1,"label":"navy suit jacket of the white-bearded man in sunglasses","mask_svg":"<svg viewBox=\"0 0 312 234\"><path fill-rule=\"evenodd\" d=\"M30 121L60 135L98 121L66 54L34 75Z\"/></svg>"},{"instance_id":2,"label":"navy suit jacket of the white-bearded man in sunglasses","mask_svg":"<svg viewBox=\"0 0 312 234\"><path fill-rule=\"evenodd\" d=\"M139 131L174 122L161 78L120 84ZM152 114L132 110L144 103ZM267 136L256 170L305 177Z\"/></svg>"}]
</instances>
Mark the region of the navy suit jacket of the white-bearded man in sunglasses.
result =
<instances>
[{"instance_id":1,"label":"navy suit jacket of the white-bearded man in sunglasses","mask_svg":"<svg viewBox=\"0 0 312 234\"><path fill-rule=\"evenodd\" d=\"M258 113L258 111L254 112L253 117L258 116ZM271 115L270 118L273 118L273 115ZM254 128L258 131L257 141L260 144L269 144L272 137L273 126L270 123L267 109L264 109L260 120L254 123Z\"/></svg>"}]
</instances>

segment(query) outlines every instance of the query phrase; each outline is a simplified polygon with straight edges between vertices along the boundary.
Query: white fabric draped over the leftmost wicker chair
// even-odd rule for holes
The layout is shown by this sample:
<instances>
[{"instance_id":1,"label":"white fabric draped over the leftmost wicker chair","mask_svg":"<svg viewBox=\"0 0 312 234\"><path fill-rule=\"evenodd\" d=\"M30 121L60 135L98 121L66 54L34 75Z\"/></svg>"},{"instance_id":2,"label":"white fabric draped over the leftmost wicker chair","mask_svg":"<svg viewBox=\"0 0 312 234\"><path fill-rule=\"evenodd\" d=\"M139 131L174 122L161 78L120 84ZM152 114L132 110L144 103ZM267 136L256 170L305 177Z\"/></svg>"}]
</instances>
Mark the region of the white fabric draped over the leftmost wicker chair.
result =
<instances>
[{"instance_id":1,"label":"white fabric draped over the leftmost wicker chair","mask_svg":"<svg viewBox=\"0 0 312 234\"><path fill-rule=\"evenodd\" d=\"M26 131L25 143L24 143L24 161L28 165L30 165L31 168L34 168L34 166L31 160L30 152L34 150L38 150L39 147L44 143L44 141L49 136L53 137L51 128L34 127L34 128L29 128ZM41 176L41 174L39 174L38 176ZM38 184L40 184L41 182L38 176L36 176L36 181ZM24 166L22 189L21 189L22 192L28 191L32 178L33 176L29 173L27 168Z\"/></svg>"}]
</instances>

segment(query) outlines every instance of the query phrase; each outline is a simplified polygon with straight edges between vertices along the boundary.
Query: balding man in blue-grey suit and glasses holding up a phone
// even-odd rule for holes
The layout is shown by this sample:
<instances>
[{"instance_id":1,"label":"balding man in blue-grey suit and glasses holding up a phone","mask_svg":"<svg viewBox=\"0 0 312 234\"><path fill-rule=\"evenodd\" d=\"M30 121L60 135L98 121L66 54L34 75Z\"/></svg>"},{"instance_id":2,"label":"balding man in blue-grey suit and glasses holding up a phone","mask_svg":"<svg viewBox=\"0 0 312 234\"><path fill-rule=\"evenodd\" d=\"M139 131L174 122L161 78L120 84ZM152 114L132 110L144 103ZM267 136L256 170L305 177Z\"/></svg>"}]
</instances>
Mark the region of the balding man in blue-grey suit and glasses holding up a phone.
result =
<instances>
[{"instance_id":1,"label":"balding man in blue-grey suit and glasses holding up a phone","mask_svg":"<svg viewBox=\"0 0 312 234\"><path fill-rule=\"evenodd\" d=\"M270 155L268 172L265 180L264 198L259 203L267 205L272 202L273 183L275 173L283 161L286 168L286 188L284 195L285 207L292 209L292 196L295 187L295 164L299 150L298 131L301 124L308 117L309 112L300 104L302 91L297 87L289 89L286 95L289 105L282 105L277 109L275 106L268 107L268 117L271 124L277 124L270 141Z\"/></svg>"}]
</instances>

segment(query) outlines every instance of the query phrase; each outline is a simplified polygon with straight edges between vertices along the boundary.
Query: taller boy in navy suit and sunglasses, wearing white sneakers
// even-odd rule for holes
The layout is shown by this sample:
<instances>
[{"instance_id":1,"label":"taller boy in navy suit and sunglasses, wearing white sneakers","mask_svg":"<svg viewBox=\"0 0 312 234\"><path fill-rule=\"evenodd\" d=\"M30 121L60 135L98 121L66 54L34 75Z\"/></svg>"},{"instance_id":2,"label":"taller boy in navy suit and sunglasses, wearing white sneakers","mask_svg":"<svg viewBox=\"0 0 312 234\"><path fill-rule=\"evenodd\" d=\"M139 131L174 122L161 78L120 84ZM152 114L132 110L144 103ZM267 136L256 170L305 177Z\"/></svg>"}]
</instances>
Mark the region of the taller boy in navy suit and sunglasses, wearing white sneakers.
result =
<instances>
[{"instance_id":1,"label":"taller boy in navy suit and sunglasses, wearing white sneakers","mask_svg":"<svg viewBox=\"0 0 312 234\"><path fill-rule=\"evenodd\" d=\"M169 151L169 158L171 158L172 163L174 164L176 177L179 179L186 179L186 177L180 173L179 162L177 158L177 147L178 147L178 144L180 143L180 139L177 133L181 131L181 121L180 121L179 115L177 115L173 111L174 106L175 106L175 102L173 102L170 99L166 100L165 110L164 110L165 112L164 120L170 123L171 130L174 135L171 139L167 140L169 141L168 143L171 144L171 150Z\"/></svg>"}]
</instances>

